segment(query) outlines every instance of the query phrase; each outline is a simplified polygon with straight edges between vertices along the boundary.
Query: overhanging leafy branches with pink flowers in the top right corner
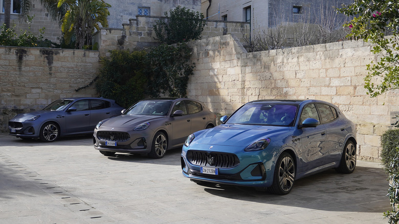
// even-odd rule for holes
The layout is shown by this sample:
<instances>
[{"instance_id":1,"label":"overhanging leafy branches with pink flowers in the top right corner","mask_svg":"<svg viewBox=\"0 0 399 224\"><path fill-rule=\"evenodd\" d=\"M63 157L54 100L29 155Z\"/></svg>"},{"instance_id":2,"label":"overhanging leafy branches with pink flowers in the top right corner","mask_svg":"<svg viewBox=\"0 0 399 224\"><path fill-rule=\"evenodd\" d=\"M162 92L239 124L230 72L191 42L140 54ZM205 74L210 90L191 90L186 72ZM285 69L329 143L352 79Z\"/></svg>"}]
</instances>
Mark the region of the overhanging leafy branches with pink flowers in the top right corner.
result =
<instances>
[{"instance_id":1,"label":"overhanging leafy branches with pink flowers in the top right corner","mask_svg":"<svg viewBox=\"0 0 399 224\"><path fill-rule=\"evenodd\" d=\"M371 50L380 61L367 65L365 88L371 97L399 88L399 8L398 1L354 0L338 12L355 16L345 26L351 28L348 37L375 44ZM391 36L387 36L391 35Z\"/></svg>"}]
</instances>

